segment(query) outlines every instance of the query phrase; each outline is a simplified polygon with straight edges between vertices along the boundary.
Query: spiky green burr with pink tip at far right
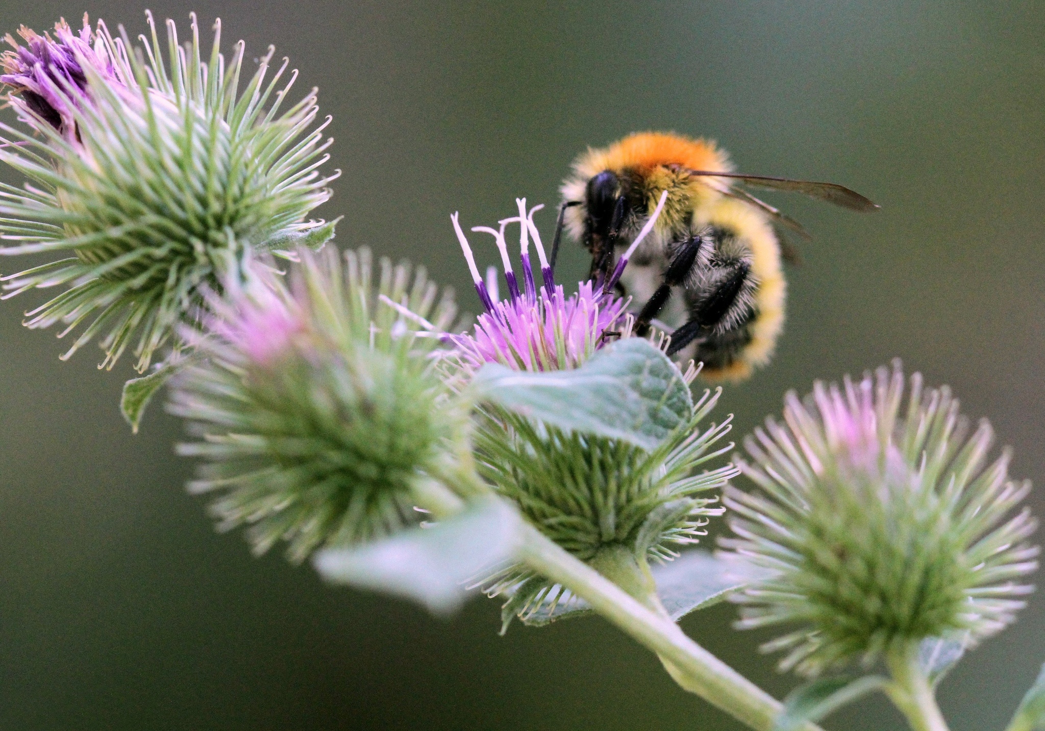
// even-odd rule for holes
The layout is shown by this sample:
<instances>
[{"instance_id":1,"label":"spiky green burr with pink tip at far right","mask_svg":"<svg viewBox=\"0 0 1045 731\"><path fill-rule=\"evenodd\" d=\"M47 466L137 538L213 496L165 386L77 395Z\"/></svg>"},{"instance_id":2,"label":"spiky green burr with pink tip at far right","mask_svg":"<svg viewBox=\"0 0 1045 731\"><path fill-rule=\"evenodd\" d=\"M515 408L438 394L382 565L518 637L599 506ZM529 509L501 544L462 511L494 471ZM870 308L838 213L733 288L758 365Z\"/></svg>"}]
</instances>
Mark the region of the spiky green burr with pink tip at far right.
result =
<instances>
[{"instance_id":1,"label":"spiky green burr with pink tip at far right","mask_svg":"<svg viewBox=\"0 0 1045 731\"><path fill-rule=\"evenodd\" d=\"M988 464L993 432L971 438L944 386L900 364L859 383L817 382L785 399L784 424L767 420L739 462L759 492L726 490L737 535L725 546L776 573L738 594L741 628L797 626L764 645L790 651L781 665L804 675L906 657L925 638L973 641L1004 628L1030 587L1037 547L1029 491L1007 477L1009 452Z\"/></svg>"}]
</instances>

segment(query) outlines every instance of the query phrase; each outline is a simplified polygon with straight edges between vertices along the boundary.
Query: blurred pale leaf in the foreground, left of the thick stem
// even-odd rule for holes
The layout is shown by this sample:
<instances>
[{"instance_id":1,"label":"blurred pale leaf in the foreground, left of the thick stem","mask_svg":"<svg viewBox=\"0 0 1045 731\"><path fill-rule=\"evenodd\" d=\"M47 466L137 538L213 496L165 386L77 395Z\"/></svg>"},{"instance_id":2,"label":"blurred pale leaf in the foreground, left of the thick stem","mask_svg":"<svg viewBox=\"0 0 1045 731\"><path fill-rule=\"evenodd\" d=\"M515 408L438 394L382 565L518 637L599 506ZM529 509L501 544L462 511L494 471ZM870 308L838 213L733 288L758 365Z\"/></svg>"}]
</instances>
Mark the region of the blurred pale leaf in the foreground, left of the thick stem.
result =
<instances>
[{"instance_id":1,"label":"blurred pale leaf in the foreground, left of the thick stem","mask_svg":"<svg viewBox=\"0 0 1045 731\"><path fill-rule=\"evenodd\" d=\"M432 527L362 546L327 548L312 563L327 581L404 596L448 614L465 600L468 580L512 559L520 527L518 513L506 502L484 499Z\"/></svg>"}]
</instances>

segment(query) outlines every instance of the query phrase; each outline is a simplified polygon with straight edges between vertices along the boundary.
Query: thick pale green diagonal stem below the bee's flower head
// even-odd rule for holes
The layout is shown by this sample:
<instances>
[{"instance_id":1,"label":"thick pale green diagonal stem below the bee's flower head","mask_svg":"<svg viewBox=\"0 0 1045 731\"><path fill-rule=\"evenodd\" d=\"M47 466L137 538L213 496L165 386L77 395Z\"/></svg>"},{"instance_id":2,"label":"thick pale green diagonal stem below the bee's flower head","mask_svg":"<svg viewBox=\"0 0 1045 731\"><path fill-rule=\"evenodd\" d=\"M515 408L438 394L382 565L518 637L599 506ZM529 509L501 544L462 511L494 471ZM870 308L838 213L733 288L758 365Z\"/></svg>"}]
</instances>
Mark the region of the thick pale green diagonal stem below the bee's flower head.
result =
<instances>
[{"instance_id":1,"label":"thick pale green diagonal stem below the bee's flower head","mask_svg":"<svg viewBox=\"0 0 1045 731\"><path fill-rule=\"evenodd\" d=\"M646 607L530 524L525 527L522 559L659 655L683 688L756 731L771 731L781 703L690 639L669 617ZM804 728L818 731L813 724Z\"/></svg>"}]
</instances>

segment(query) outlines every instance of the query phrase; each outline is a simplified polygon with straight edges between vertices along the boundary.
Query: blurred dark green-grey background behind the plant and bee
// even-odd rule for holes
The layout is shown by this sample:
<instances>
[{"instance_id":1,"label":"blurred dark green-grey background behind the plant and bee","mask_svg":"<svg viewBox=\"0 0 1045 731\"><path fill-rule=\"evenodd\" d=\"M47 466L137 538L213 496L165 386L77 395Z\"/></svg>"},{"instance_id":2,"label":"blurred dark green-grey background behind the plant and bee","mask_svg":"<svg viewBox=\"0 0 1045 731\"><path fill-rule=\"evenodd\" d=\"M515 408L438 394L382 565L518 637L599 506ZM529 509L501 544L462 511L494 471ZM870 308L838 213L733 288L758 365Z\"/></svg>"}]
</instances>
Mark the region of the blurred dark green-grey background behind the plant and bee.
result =
<instances>
[{"instance_id":1,"label":"blurred dark green-grey background behind the plant and bee","mask_svg":"<svg viewBox=\"0 0 1045 731\"><path fill-rule=\"evenodd\" d=\"M87 9L144 29L143 6L4 0L0 32ZM1045 482L1045 5L1040 2L356 3L163 0L268 44L334 117L322 214L342 246L427 265L478 301L448 214L469 226L557 201L585 145L675 129L718 139L745 172L849 185L873 216L767 196L816 238L790 270L773 364L727 388L737 435L787 388L900 356L950 383ZM9 111L0 113L9 120ZM9 171L3 180L15 183ZM552 213L538 215L551 234ZM494 260L494 250L482 256ZM567 245L560 279L585 270ZM22 268L0 260L0 270ZM588 618L496 636L498 606L442 620L252 559L186 494L182 425L154 407L133 437L130 375L61 363L53 332L0 304L0 728L740 728L678 690L645 650ZM1045 515L1045 492L1032 497ZM793 680L729 629L684 628L782 697ZM1045 598L940 690L955 731L1000 729L1045 660ZM831 720L899 728L880 699Z\"/></svg>"}]
</instances>

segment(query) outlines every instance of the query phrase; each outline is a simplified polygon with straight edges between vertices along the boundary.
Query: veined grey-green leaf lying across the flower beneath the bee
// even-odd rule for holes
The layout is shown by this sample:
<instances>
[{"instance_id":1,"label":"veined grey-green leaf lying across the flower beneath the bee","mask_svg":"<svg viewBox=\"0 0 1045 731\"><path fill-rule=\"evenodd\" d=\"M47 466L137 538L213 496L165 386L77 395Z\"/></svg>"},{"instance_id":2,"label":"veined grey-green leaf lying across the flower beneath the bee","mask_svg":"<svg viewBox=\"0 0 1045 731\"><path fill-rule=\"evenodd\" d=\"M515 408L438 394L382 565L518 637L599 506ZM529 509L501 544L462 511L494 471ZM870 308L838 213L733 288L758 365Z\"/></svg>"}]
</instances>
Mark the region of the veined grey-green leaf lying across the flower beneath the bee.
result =
<instances>
[{"instance_id":1,"label":"veined grey-green leaf lying across the flower beneath the bee","mask_svg":"<svg viewBox=\"0 0 1045 731\"><path fill-rule=\"evenodd\" d=\"M682 374L641 337L619 340L574 371L529 373L487 363L472 383L485 400L529 419L647 450L693 416Z\"/></svg>"}]
</instances>

